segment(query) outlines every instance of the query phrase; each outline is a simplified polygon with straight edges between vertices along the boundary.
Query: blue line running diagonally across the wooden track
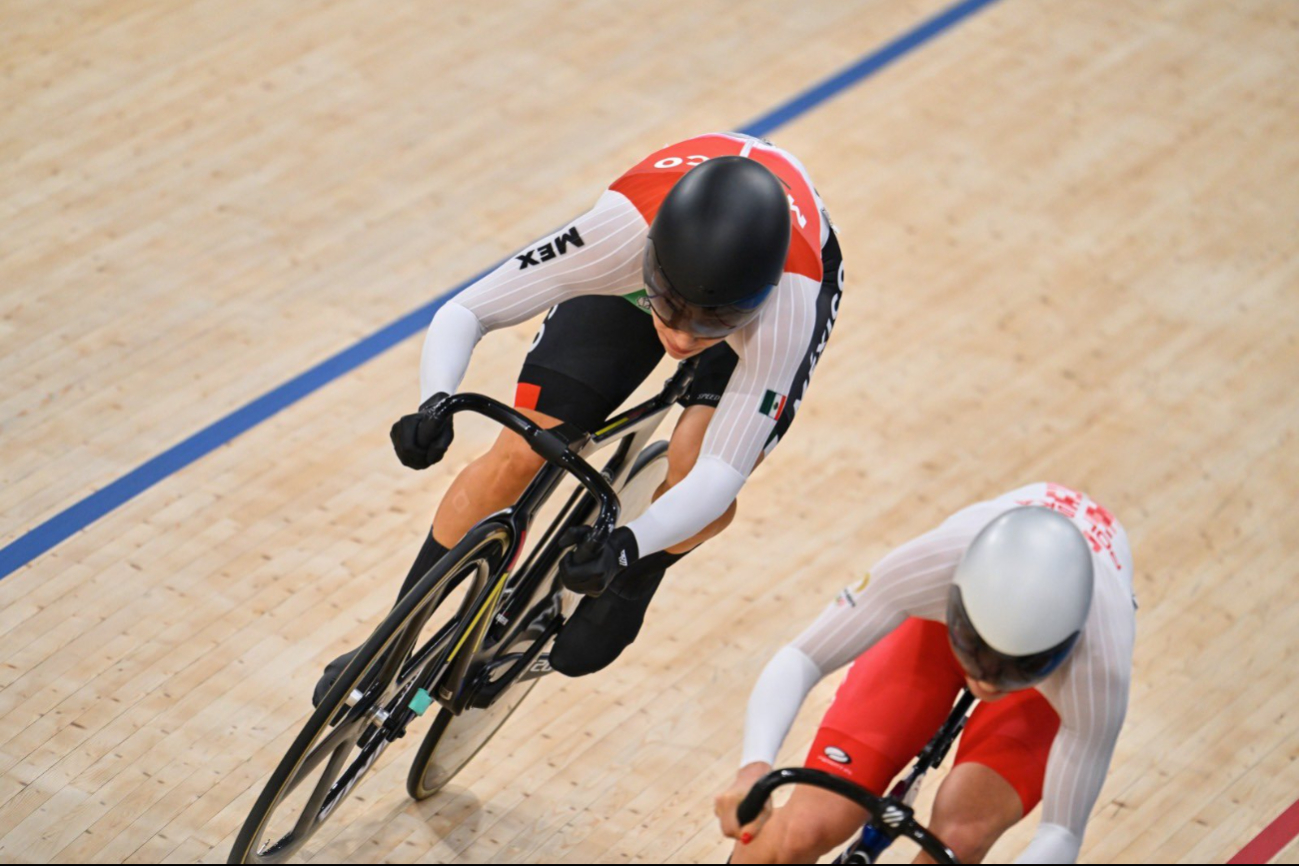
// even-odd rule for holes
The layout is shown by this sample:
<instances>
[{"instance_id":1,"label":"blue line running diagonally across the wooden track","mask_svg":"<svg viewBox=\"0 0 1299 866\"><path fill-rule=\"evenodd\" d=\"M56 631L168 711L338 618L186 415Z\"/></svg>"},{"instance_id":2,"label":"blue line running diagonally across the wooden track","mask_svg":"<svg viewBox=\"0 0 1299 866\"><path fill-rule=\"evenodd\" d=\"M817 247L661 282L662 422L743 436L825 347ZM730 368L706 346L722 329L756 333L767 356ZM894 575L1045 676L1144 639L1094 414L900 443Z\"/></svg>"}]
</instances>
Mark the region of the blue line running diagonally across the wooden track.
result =
<instances>
[{"instance_id":1,"label":"blue line running diagonally across the wooden track","mask_svg":"<svg viewBox=\"0 0 1299 866\"><path fill-rule=\"evenodd\" d=\"M750 135L766 135L805 114L821 103L837 96L848 87L872 75L899 57L921 47L940 32L953 27L983 6L996 0L964 0L938 13L911 31L898 36L887 45L866 55L852 66L835 73L830 78L809 87L783 105L750 121L740 127ZM494 266L495 267L495 266ZM234 410L225 418L204 427L184 441L181 441L152 460L136 466L126 475L103 487L75 505L60 512L40 526L0 548L0 578L17 571L42 553L61 544L82 531L117 506L130 501L139 493L153 487L169 475L184 469L200 457L216 451L239 434L247 432L282 409L287 409L307 395L329 384L334 379L351 373L370 358L382 354L401 340L420 332L433 314L465 286L469 286L491 269L485 270L417 310L407 313L338 354L321 361L310 370L301 373L284 384L257 397L252 402Z\"/></svg>"}]
</instances>

